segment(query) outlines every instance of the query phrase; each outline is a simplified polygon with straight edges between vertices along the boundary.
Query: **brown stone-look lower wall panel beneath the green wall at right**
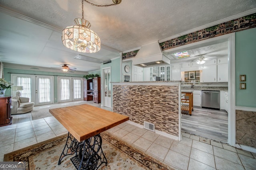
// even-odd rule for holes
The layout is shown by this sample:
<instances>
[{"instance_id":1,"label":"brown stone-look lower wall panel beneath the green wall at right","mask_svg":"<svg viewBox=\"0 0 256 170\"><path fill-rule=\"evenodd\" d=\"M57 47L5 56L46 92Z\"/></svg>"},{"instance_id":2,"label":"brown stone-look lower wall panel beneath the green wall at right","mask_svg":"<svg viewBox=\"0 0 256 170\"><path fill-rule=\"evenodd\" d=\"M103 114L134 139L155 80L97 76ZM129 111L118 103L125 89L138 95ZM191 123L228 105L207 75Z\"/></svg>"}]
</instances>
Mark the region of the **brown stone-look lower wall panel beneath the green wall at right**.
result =
<instances>
[{"instance_id":1,"label":"brown stone-look lower wall panel beneath the green wall at right","mask_svg":"<svg viewBox=\"0 0 256 170\"><path fill-rule=\"evenodd\" d=\"M256 112L236 110L236 143L256 148Z\"/></svg>"}]
</instances>

